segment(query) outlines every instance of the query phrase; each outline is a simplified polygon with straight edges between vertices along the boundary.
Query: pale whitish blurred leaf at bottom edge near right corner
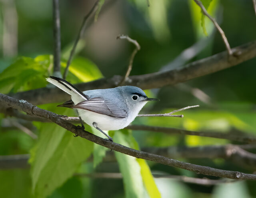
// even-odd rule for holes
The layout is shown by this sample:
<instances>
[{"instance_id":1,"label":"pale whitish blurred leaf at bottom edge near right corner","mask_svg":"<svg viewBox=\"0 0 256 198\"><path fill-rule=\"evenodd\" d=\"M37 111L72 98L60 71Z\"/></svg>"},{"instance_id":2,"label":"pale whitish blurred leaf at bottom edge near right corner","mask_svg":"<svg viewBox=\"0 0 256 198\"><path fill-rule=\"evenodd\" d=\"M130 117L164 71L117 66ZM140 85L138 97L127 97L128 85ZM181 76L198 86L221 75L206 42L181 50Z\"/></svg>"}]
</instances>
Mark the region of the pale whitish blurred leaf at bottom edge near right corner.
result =
<instances>
[{"instance_id":1,"label":"pale whitish blurred leaf at bottom edge near right corner","mask_svg":"<svg viewBox=\"0 0 256 198\"><path fill-rule=\"evenodd\" d=\"M227 184L216 185L212 198L251 198L246 182L238 181Z\"/></svg>"}]
</instances>

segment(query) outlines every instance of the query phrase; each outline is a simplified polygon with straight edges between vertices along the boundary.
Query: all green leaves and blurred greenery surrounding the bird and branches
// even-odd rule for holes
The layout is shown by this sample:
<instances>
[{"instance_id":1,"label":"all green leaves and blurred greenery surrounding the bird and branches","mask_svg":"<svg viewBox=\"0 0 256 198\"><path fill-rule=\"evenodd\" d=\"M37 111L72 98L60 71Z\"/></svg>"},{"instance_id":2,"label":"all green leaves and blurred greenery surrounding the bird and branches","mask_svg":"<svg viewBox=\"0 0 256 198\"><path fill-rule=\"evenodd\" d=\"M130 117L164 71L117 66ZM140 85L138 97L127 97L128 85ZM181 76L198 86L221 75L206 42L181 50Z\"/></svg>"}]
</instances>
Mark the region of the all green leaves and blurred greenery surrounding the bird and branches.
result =
<instances>
[{"instance_id":1,"label":"all green leaves and blurred greenery surrounding the bird and branches","mask_svg":"<svg viewBox=\"0 0 256 198\"><path fill-rule=\"evenodd\" d=\"M201 2L208 13L216 18L231 46L255 39L256 26L252 26L255 23L252 2L231 0ZM25 0L16 1L15 5L19 19L18 56L7 57L2 48L4 42L0 39L0 52L4 54L4 57L0 58L0 92L6 94L46 87L45 78L52 75L53 70L51 4L42 0L37 3ZM81 19L85 12L87 13L87 8L91 6L92 4L89 5L88 2L74 4L61 2L62 73ZM105 6L111 9L106 9ZM4 11L4 6L2 9ZM103 9L106 9L106 12L102 12ZM4 12L2 14L0 29L4 31L0 31L0 35L6 34L6 29L3 28ZM118 34L129 34L142 47L134 59L131 75L158 72L184 49L194 45L198 40L205 39L207 35L209 35L207 46L200 52L196 52L195 47L190 48L189 52L196 54L194 58L188 60L186 56L182 56L184 62L205 58L225 50L220 35L214 31L212 22L202 14L193 0L150 0L150 7L146 0L128 0L124 4L112 4L100 0L94 20L97 20L97 23L93 26L88 23L85 39L78 42L76 55L67 76L67 80L71 83L88 82L103 76L125 73L131 45L118 46L120 42L115 41ZM241 66L184 82L188 87L198 88L207 94L210 103L194 97L192 89L182 90L179 86L146 90L148 96L160 98L160 102L147 104L142 113L170 112L194 104L200 104L200 108L181 112L184 118L136 118L133 124L205 132L214 130L223 133L235 129L255 135L256 92L252 87L255 84L255 64L255 59L250 60ZM56 108L56 105L44 104L40 107L58 114L76 115L73 110ZM38 139L33 140L22 130L10 126L7 122L9 119L16 120L0 114L0 155L30 153L30 168L0 170L1 197L249 198L256 196L254 181L199 186L174 179L153 178L152 173L197 178L203 176L136 159L115 151L110 152L107 148L83 138L74 138L70 132L53 123L22 122L38 135ZM90 126L86 126L86 130L102 136L98 130ZM238 144L216 138L125 129L108 133L113 137L114 142L138 150L145 147ZM114 156L115 161L106 162L106 155ZM182 161L224 170L251 172L228 159L182 158ZM122 182L120 179L82 176L82 174L93 175L101 172L121 172Z\"/></svg>"}]
</instances>

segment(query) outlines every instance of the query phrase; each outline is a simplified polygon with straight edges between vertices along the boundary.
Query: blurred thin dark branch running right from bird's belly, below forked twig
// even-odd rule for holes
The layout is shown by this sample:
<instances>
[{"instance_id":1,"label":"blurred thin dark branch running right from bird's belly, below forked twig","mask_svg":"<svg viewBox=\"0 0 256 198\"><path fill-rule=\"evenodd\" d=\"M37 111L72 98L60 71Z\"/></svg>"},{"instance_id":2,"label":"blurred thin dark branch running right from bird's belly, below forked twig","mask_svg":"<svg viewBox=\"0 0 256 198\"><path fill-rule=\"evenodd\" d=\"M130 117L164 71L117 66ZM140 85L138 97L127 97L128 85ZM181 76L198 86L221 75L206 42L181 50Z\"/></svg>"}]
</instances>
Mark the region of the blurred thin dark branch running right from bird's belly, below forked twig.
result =
<instances>
[{"instance_id":1,"label":"blurred thin dark branch running right from bird's belly, below forked twig","mask_svg":"<svg viewBox=\"0 0 256 198\"><path fill-rule=\"evenodd\" d=\"M190 135L190 136L203 136L203 137L210 137L210 138L220 138L220 139L227 139L237 142L247 142L247 143L256 143L255 136L241 136L235 135L232 132L203 132L203 131L189 131L184 129L178 128L168 128L168 127L160 127L160 126L146 126L146 125L129 125L126 127L127 129L131 130L147 130L153 132L163 132L166 134L182 134L182 135Z\"/></svg>"}]
</instances>

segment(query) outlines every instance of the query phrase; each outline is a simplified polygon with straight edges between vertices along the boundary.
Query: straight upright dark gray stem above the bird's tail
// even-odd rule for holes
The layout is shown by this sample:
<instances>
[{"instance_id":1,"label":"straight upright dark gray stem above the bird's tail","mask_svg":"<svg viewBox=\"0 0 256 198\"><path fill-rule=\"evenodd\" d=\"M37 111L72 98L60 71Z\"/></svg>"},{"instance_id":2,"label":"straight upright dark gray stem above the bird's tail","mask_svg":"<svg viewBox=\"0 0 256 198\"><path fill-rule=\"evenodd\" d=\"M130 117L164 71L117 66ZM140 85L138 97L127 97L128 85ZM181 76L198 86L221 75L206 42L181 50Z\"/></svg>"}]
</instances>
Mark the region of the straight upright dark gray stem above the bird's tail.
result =
<instances>
[{"instance_id":1,"label":"straight upright dark gray stem above the bird's tail","mask_svg":"<svg viewBox=\"0 0 256 198\"><path fill-rule=\"evenodd\" d=\"M61 77L60 73L60 10L59 0L52 0L53 3L53 37L54 37L54 76Z\"/></svg>"}]
</instances>

